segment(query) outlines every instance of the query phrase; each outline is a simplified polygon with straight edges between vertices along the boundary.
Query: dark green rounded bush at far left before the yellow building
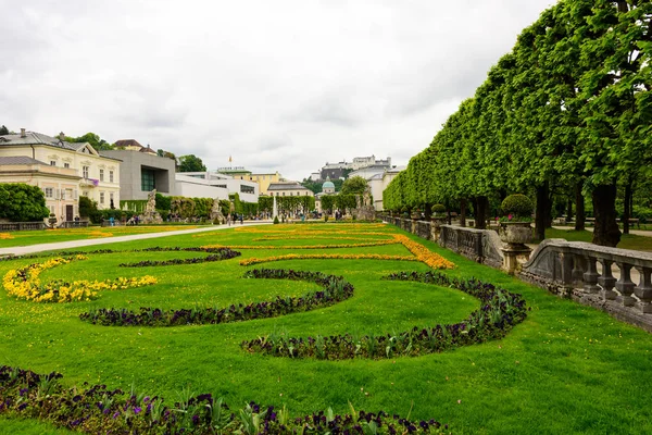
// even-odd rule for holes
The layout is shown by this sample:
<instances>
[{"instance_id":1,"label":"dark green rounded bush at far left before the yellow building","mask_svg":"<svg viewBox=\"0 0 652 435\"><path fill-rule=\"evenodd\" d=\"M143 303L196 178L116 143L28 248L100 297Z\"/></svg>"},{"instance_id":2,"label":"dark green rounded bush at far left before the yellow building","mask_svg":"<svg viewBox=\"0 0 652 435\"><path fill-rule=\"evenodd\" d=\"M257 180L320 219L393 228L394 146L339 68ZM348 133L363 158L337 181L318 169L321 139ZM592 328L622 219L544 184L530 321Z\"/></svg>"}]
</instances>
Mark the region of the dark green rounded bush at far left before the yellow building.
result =
<instances>
[{"instance_id":1,"label":"dark green rounded bush at far left before the yellow building","mask_svg":"<svg viewBox=\"0 0 652 435\"><path fill-rule=\"evenodd\" d=\"M46 196L39 187L23 183L0 184L0 219L32 222L49 214Z\"/></svg>"}]
</instances>

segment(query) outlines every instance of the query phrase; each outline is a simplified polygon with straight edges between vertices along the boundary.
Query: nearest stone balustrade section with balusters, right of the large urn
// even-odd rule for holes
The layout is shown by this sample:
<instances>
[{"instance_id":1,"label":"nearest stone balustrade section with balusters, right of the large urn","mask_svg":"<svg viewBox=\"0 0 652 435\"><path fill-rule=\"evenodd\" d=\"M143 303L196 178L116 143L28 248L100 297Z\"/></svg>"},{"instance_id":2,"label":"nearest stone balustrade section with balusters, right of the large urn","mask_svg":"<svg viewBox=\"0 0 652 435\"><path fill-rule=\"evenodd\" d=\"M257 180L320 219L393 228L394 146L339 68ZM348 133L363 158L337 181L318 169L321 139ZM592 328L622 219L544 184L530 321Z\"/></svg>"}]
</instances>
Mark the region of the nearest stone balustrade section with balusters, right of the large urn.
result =
<instances>
[{"instance_id":1,"label":"nearest stone balustrade section with balusters, right of the large urn","mask_svg":"<svg viewBox=\"0 0 652 435\"><path fill-rule=\"evenodd\" d=\"M651 275L652 253L548 239L518 277L652 332Z\"/></svg>"}]
</instances>

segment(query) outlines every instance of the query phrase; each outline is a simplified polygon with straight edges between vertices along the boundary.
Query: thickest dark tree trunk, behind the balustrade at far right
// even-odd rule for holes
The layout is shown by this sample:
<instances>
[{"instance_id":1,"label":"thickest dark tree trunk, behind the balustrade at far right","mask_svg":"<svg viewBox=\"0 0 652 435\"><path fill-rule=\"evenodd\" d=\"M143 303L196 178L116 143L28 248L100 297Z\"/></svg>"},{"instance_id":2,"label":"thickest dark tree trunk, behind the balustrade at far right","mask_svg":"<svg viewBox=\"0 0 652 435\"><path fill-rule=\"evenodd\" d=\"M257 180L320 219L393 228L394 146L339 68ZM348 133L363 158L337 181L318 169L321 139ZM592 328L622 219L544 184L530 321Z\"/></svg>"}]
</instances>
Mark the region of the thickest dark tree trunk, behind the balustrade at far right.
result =
<instances>
[{"instance_id":1,"label":"thickest dark tree trunk, behind the balustrade at far right","mask_svg":"<svg viewBox=\"0 0 652 435\"><path fill-rule=\"evenodd\" d=\"M600 185L593 189L593 213L595 228L593 244L615 248L620 241L620 229L616 223L616 184Z\"/></svg>"}]
</instances>

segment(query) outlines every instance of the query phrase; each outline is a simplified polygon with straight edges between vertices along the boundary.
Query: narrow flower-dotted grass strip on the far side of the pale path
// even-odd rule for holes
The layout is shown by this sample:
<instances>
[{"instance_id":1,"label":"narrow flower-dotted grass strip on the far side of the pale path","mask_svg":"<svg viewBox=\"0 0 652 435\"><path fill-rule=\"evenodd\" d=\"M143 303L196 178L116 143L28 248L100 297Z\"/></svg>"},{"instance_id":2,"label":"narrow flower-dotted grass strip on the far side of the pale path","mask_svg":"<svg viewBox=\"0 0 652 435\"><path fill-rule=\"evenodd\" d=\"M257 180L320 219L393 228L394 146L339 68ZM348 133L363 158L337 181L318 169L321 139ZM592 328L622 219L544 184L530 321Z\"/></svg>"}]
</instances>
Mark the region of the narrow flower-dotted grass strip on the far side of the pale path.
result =
<instances>
[{"instance_id":1,"label":"narrow flower-dotted grass strip on the far side of the pale path","mask_svg":"<svg viewBox=\"0 0 652 435\"><path fill-rule=\"evenodd\" d=\"M198 225L129 225L9 232L0 233L0 248L127 236L131 234L163 233L170 231L191 229L197 227Z\"/></svg>"}]
</instances>

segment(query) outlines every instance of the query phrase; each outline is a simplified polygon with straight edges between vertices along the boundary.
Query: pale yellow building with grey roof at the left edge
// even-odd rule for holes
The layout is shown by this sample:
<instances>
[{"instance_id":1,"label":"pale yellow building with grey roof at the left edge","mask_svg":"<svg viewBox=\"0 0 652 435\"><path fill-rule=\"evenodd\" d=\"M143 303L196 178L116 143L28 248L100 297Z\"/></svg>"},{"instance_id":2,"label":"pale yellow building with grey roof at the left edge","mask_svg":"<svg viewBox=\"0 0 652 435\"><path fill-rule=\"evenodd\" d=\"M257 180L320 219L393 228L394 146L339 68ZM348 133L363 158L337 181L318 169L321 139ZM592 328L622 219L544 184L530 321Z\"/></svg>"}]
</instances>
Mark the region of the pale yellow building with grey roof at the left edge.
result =
<instances>
[{"instance_id":1,"label":"pale yellow building with grey roof at the left edge","mask_svg":"<svg viewBox=\"0 0 652 435\"><path fill-rule=\"evenodd\" d=\"M102 157L90 144L67 142L25 132L0 136L0 183L25 183L40 187L46 206L60 221L78 215L79 196L109 209L120 208L120 163Z\"/></svg>"}]
</instances>

